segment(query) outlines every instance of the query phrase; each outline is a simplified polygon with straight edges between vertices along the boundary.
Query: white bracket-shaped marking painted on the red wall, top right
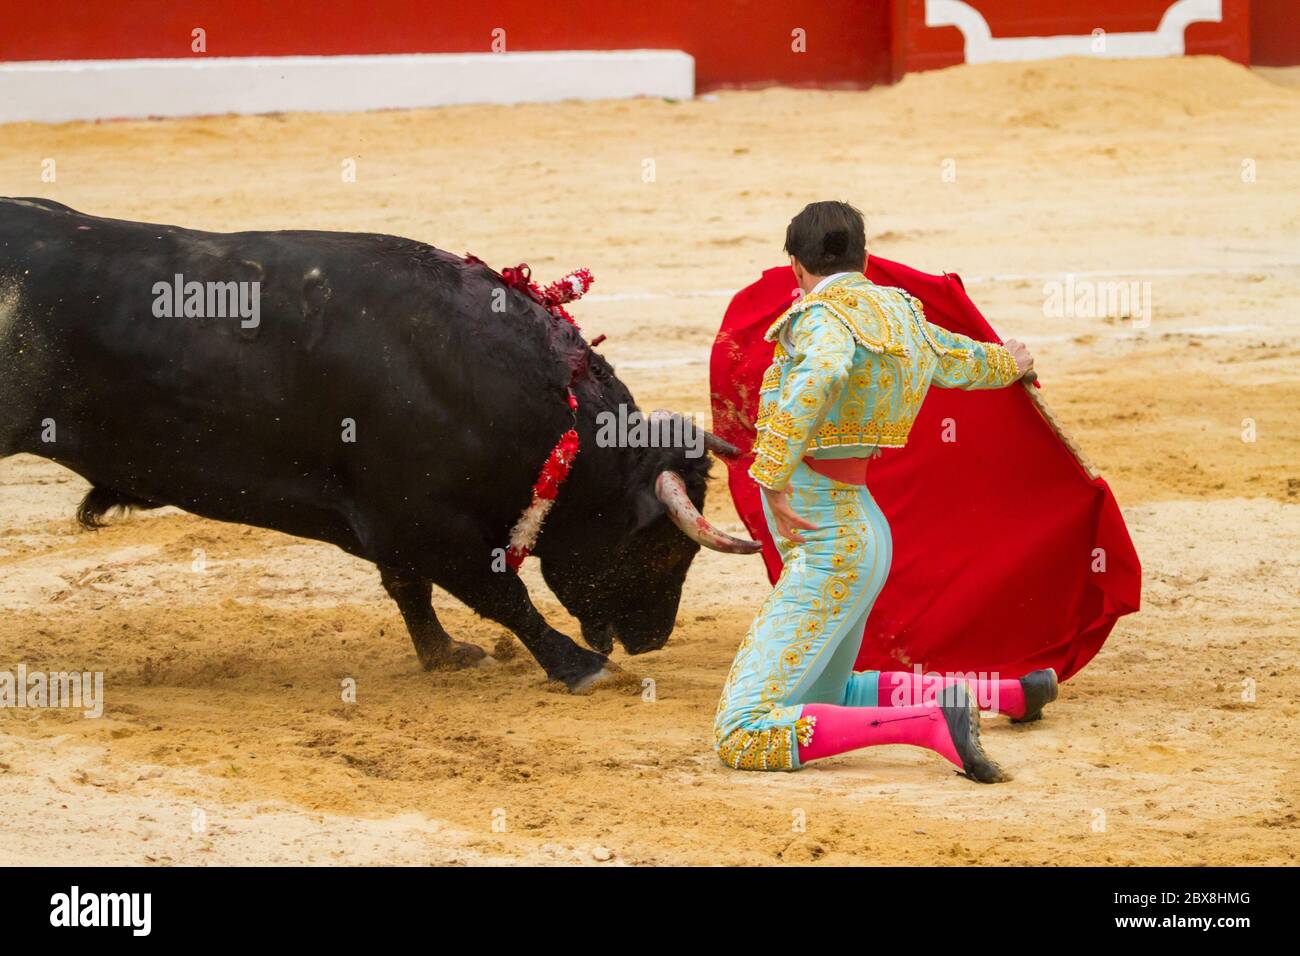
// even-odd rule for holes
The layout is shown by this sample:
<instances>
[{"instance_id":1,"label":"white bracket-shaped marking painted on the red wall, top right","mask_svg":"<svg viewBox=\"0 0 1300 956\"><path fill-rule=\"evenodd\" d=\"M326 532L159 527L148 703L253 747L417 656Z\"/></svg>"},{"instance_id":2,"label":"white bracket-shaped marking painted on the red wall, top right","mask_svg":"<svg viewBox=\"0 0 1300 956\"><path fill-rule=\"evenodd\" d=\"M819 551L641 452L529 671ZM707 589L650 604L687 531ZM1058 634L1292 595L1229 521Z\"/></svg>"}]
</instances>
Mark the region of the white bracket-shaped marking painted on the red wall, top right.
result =
<instances>
[{"instance_id":1,"label":"white bracket-shaped marking painted on the red wall, top right","mask_svg":"<svg viewBox=\"0 0 1300 956\"><path fill-rule=\"evenodd\" d=\"M1091 34L1063 36L993 36L984 16L965 0L926 0L926 26L956 26L966 40L966 62L1050 60L1058 56L1183 56L1191 23L1223 21L1222 0L1176 0L1150 33L1105 36L1101 52Z\"/></svg>"}]
</instances>

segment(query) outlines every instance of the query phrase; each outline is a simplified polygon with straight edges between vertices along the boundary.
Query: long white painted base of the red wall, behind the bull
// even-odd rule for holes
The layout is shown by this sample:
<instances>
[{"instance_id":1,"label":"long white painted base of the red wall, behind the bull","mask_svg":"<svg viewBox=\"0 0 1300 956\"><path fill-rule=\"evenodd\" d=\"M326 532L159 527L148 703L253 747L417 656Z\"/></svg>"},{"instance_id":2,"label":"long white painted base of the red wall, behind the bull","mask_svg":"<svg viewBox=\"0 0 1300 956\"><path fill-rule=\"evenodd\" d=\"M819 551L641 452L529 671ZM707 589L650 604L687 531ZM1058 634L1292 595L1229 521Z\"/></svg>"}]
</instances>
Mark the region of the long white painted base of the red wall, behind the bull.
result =
<instances>
[{"instance_id":1,"label":"long white painted base of the red wall, behind the bull","mask_svg":"<svg viewBox=\"0 0 1300 956\"><path fill-rule=\"evenodd\" d=\"M0 122L694 94L679 49L0 62Z\"/></svg>"}]
</instances>

